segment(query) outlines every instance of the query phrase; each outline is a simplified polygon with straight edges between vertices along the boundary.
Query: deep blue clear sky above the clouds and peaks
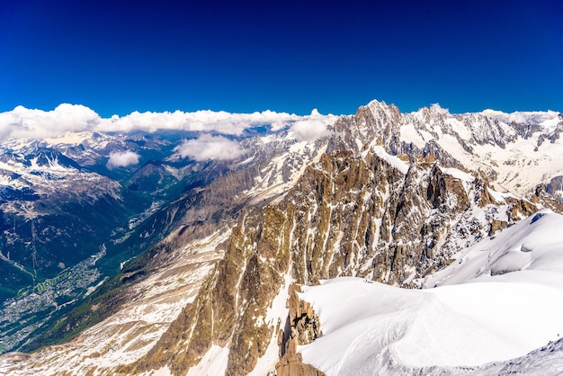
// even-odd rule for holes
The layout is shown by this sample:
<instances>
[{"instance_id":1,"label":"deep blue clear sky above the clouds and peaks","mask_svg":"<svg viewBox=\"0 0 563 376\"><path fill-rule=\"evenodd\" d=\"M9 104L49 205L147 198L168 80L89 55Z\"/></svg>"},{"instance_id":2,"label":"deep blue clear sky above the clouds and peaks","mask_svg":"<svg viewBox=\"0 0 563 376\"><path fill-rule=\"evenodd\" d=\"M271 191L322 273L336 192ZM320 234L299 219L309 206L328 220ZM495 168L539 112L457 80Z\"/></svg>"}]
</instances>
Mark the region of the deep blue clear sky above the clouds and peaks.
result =
<instances>
[{"instance_id":1,"label":"deep blue clear sky above the clouds and peaks","mask_svg":"<svg viewBox=\"0 0 563 376\"><path fill-rule=\"evenodd\" d=\"M0 112L563 111L562 4L2 0Z\"/></svg>"}]
</instances>

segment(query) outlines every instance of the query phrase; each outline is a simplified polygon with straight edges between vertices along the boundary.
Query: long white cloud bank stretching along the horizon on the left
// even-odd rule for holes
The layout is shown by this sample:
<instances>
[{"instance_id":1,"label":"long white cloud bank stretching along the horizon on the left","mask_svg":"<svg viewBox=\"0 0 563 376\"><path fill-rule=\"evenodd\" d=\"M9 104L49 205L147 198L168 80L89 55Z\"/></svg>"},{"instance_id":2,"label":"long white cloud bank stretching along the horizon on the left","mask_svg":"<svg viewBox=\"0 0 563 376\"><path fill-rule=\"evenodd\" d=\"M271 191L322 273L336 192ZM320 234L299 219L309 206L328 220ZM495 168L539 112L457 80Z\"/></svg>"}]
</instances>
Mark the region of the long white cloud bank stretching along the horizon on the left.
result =
<instances>
[{"instance_id":1,"label":"long white cloud bank stretching along the horizon on the left","mask_svg":"<svg viewBox=\"0 0 563 376\"><path fill-rule=\"evenodd\" d=\"M282 130L300 121L333 123L335 115L321 115L316 110L307 116L286 112L230 113L230 112L131 112L127 116L113 115L109 119L80 104L63 103L53 111L30 110L18 106L10 112L0 112L0 142L7 139L44 139L65 134L67 131L123 131L192 130L217 132L240 136L246 129L271 125L271 130ZM298 132L299 133L299 132ZM310 133L306 131L305 133ZM300 134L300 133L299 133ZM310 136L310 135L309 135Z\"/></svg>"}]
</instances>

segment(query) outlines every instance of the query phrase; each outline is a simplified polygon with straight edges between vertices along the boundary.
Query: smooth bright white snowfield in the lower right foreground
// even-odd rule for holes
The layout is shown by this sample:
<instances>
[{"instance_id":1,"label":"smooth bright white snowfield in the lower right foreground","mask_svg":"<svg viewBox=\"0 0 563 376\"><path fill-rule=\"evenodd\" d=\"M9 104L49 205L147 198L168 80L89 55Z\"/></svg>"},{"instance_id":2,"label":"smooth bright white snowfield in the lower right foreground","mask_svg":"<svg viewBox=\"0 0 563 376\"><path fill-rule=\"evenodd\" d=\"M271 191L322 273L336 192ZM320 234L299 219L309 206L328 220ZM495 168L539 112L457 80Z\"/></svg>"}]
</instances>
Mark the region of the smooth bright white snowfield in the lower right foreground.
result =
<instances>
[{"instance_id":1,"label":"smooth bright white snowfield in the lower right foreground","mask_svg":"<svg viewBox=\"0 0 563 376\"><path fill-rule=\"evenodd\" d=\"M324 336L299 346L303 362L328 375L477 372L558 340L561 229L563 216L547 210L523 219L430 277L432 289L349 277L304 287Z\"/></svg>"}]
</instances>

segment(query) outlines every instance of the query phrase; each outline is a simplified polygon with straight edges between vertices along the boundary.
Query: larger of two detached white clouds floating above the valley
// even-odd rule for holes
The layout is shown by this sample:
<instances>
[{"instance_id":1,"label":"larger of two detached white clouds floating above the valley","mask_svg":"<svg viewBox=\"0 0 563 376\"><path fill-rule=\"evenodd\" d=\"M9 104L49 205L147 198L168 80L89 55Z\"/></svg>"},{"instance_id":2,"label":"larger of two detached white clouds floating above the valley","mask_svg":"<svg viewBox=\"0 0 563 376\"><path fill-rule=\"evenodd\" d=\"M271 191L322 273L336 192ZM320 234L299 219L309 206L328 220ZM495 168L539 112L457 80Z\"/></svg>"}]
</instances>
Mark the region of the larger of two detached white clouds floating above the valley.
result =
<instances>
[{"instance_id":1,"label":"larger of two detached white clouds floating above the valley","mask_svg":"<svg viewBox=\"0 0 563 376\"><path fill-rule=\"evenodd\" d=\"M237 157L243 156L246 150L241 148L237 141L223 136L203 134L197 139L184 139L180 146L174 148L174 152L179 157L204 161L237 159Z\"/></svg>"}]
</instances>

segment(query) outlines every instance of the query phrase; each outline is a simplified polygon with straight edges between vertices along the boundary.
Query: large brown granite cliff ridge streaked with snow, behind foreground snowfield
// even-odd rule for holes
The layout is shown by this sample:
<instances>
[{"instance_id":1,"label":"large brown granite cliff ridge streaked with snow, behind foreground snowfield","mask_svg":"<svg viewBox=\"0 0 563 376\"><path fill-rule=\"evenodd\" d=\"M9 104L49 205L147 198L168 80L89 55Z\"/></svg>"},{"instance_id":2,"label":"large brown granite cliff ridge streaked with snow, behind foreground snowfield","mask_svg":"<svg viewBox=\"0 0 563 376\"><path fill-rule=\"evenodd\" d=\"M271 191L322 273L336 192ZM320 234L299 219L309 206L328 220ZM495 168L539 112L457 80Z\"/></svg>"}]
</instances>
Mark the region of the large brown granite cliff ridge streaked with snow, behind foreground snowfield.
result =
<instances>
[{"instance_id":1,"label":"large brown granite cliff ridge streaked with snow, behind foreground snowfield","mask_svg":"<svg viewBox=\"0 0 563 376\"><path fill-rule=\"evenodd\" d=\"M281 201L242 211L224 259L171 325L173 339L161 340L126 371L167 366L184 374L218 345L228 348L227 374L243 375L274 342L286 360L280 367L290 367L298 359L293 338L303 345L320 336L303 325L302 317L314 320L307 308L290 308L289 317L271 313L290 282L353 275L418 287L461 246L494 232L496 218L508 225L535 210L490 194L471 175L436 162L409 166L380 147L325 154Z\"/></svg>"}]
</instances>

